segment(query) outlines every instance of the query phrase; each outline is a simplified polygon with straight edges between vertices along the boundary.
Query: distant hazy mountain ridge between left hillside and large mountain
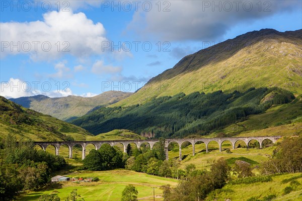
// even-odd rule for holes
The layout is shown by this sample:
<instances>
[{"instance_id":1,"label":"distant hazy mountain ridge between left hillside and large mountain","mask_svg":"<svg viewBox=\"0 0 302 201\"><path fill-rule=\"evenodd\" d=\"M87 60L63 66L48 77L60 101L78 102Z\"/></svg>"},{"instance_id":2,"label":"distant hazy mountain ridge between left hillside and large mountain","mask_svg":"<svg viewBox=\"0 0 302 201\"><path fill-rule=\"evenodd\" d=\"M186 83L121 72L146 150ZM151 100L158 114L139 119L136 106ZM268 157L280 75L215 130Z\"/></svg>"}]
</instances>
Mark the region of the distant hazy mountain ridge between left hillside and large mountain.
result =
<instances>
[{"instance_id":1,"label":"distant hazy mountain ridge between left hillside and large mountain","mask_svg":"<svg viewBox=\"0 0 302 201\"><path fill-rule=\"evenodd\" d=\"M106 91L93 97L69 95L66 97L50 98L45 95L36 95L11 98L10 100L25 108L30 108L68 122L97 108L114 104L131 94L122 91Z\"/></svg>"}]
</instances>

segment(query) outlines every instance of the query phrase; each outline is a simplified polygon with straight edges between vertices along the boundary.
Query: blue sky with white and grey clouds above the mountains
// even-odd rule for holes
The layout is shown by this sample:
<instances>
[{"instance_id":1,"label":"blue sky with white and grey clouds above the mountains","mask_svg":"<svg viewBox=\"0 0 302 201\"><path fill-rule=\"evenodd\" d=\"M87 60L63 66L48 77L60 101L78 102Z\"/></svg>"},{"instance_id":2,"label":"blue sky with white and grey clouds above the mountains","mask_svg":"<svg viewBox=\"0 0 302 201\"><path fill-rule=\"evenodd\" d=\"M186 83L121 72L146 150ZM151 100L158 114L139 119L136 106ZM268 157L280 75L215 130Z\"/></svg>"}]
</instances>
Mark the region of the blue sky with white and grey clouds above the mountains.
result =
<instances>
[{"instance_id":1,"label":"blue sky with white and grey clouds above the mountains","mask_svg":"<svg viewBox=\"0 0 302 201\"><path fill-rule=\"evenodd\" d=\"M1 1L0 93L133 92L208 42L301 29L301 13L301 1Z\"/></svg>"}]
</instances>

